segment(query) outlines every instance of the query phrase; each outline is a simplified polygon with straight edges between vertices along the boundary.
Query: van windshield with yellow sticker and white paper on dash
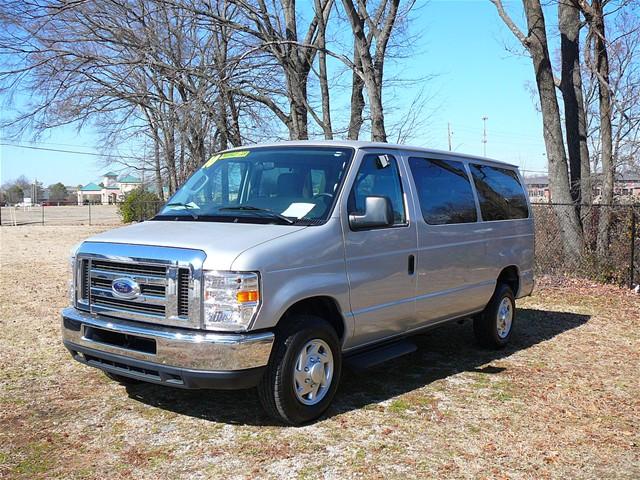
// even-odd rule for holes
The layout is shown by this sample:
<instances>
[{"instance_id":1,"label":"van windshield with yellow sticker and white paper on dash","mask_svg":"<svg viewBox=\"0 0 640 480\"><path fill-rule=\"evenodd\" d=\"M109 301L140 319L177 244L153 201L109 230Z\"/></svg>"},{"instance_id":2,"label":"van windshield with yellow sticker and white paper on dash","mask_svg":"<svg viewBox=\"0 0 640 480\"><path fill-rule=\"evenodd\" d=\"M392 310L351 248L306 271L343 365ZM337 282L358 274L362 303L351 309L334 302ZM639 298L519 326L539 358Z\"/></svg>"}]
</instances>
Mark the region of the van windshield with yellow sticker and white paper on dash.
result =
<instances>
[{"instance_id":1,"label":"van windshield with yellow sticker and white paper on dash","mask_svg":"<svg viewBox=\"0 0 640 480\"><path fill-rule=\"evenodd\" d=\"M350 148L265 147L214 155L154 220L307 224L333 207Z\"/></svg>"}]
</instances>

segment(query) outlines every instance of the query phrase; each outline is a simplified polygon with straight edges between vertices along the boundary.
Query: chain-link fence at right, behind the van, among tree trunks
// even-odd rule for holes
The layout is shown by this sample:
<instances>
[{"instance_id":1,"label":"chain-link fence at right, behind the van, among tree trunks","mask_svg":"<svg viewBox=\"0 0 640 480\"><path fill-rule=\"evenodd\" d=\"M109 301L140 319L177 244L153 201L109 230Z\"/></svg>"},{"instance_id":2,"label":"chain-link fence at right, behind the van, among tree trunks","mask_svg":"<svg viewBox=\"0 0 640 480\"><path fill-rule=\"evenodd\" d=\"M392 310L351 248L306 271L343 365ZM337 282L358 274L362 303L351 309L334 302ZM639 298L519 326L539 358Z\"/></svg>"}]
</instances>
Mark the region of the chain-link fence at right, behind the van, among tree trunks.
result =
<instances>
[{"instance_id":1,"label":"chain-link fence at right, behind the van, among tree trunks","mask_svg":"<svg viewBox=\"0 0 640 480\"><path fill-rule=\"evenodd\" d=\"M637 223L640 204L591 205L581 212L585 248L576 264L562 246L560 225L553 204L533 204L535 220L535 270L537 275L589 278L632 287L640 279L640 238ZM611 215L609 245L597 253L600 216Z\"/></svg>"}]
</instances>

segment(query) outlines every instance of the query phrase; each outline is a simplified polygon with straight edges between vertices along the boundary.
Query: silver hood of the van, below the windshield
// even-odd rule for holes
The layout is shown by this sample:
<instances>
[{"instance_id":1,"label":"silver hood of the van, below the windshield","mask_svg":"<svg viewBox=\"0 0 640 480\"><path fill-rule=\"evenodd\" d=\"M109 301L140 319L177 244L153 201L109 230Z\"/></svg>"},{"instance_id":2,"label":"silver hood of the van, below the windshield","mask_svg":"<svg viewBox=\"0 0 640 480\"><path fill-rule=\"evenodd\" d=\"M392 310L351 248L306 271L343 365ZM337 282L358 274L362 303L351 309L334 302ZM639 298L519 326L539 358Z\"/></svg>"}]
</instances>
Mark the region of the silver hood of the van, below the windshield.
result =
<instances>
[{"instance_id":1,"label":"silver hood of the van, below the windshield","mask_svg":"<svg viewBox=\"0 0 640 480\"><path fill-rule=\"evenodd\" d=\"M202 250L204 268L228 270L245 250L290 235L306 226L252 223L148 221L109 230L88 238L89 242L151 245Z\"/></svg>"}]
</instances>

